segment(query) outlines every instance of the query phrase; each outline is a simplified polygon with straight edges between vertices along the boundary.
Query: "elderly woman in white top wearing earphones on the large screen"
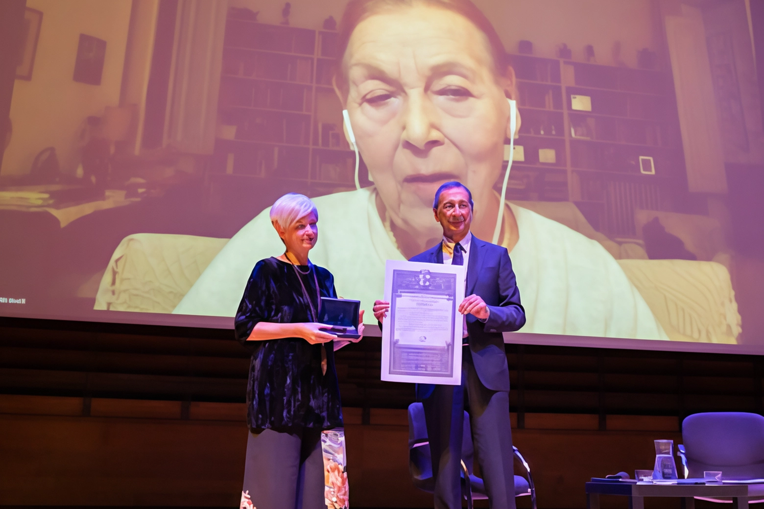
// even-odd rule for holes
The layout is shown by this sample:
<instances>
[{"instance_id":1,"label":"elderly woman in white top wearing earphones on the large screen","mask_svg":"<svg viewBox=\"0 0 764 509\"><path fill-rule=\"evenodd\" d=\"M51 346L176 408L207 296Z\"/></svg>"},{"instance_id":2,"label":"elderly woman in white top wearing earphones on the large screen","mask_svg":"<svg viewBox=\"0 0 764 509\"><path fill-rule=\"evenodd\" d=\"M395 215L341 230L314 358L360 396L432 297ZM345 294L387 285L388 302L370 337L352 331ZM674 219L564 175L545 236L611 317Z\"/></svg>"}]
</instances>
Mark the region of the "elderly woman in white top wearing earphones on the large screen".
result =
<instances>
[{"instance_id":1,"label":"elderly woman in white top wearing earphones on the large screen","mask_svg":"<svg viewBox=\"0 0 764 509\"><path fill-rule=\"evenodd\" d=\"M432 196L449 180L474 194L472 232L510 251L526 332L668 339L598 242L494 191L510 131L515 77L494 27L469 0L353 0L338 39L335 89L374 186L316 199L331 239L314 254L343 293L371 306L384 263L440 242ZM516 124L520 125L518 114ZM519 127L518 127L519 128ZM229 293L274 252L267 211L238 232L174 313L231 315ZM254 239L257 239L255 242ZM256 250L244 246L257 245ZM210 298L213 297L213 298Z\"/></svg>"}]
</instances>

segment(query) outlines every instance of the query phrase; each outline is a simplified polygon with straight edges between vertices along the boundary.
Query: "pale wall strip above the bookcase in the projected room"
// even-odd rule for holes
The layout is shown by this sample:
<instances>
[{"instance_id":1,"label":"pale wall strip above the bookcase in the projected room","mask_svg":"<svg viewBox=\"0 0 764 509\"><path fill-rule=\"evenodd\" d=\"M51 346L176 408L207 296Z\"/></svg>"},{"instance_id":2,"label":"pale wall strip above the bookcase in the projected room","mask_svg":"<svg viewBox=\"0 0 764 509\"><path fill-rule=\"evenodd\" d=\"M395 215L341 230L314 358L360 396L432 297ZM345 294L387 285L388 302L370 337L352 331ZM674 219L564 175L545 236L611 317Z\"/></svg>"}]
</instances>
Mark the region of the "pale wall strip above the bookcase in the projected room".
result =
<instances>
[{"instance_id":1,"label":"pale wall strip above the bookcase in the projected room","mask_svg":"<svg viewBox=\"0 0 764 509\"><path fill-rule=\"evenodd\" d=\"M517 52L517 42L533 42L534 53L556 57L557 47L568 44L574 60L584 60L584 46L594 45L597 62L611 64L613 43L621 42L621 58L636 66L636 51L659 50L662 35L651 0L473 0L493 21L504 46ZM321 28L323 20L342 17L346 0L291 0L290 24ZM229 0L233 7L260 11L258 21L280 23L284 2Z\"/></svg>"}]
</instances>

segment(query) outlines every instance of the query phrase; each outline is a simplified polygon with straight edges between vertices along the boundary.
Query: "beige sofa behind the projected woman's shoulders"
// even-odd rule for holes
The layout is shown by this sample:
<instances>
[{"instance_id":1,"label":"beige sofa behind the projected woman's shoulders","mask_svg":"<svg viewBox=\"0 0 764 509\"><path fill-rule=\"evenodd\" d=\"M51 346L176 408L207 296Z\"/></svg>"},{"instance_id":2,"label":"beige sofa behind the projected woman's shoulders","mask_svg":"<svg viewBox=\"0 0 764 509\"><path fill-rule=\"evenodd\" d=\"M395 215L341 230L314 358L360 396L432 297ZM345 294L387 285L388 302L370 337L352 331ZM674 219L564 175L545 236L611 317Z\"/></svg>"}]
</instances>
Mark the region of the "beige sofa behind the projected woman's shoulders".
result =
<instances>
[{"instance_id":1,"label":"beige sofa behind the projected woman's shoulders","mask_svg":"<svg viewBox=\"0 0 764 509\"><path fill-rule=\"evenodd\" d=\"M641 238L615 241L594 230L574 203L515 202L600 242L616 258L672 341L735 343L740 314L730 280L733 257L714 219L636 211L636 231L658 216L698 261L649 260ZM171 313L226 238L138 233L118 245L95 309Z\"/></svg>"}]
</instances>

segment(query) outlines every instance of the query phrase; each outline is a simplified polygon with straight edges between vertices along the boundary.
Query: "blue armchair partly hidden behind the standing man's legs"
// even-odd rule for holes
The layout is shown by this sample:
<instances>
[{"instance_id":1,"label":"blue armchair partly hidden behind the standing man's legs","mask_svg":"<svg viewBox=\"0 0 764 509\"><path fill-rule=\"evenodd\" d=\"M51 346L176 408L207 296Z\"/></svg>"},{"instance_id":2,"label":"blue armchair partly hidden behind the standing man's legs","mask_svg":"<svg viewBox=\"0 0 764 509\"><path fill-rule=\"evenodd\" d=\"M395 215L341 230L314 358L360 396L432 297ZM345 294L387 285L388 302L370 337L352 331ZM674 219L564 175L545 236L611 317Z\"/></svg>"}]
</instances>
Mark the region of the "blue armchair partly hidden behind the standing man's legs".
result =
<instances>
[{"instance_id":1,"label":"blue armchair partly hidden behind the standing man's legs","mask_svg":"<svg viewBox=\"0 0 764 509\"><path fill-rule=\"evenodd\" d=\"M525 468L527 479L515 475L515 497L530 496L531 506L536 509L536 488L530 467L516 447L514 455ZM487 498L483 479L473 475L474 446L469 414L465 412L464 436L461 440L461 493L467 500L468 509L472 509L472 501ZM432 493L435 480L432 478L432 458L430 456L429 439L425 423L425 410L421 403L409 405L409 472L416 488ZM466 482L465 479L469 479Z\"/></svg>"}]
</instances>

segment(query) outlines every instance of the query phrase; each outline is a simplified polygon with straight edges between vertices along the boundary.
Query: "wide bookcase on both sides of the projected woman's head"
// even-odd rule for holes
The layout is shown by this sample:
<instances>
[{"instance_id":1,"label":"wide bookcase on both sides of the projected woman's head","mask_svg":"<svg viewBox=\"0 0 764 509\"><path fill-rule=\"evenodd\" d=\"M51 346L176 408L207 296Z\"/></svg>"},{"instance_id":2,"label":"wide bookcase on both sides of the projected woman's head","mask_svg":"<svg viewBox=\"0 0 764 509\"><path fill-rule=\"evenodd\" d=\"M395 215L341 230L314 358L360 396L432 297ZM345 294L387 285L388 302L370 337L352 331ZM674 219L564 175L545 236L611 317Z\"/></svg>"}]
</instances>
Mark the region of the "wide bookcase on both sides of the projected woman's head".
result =
<instances>
[{"instance_id":1,"label":"wide bookcase on both sides of the projected woman's head","mask_svg":"<svg viewBox=\"0 0 764 509\"><path fill-rule=\"evenodd\" d=\"M211 177L308 196L354 189L332 89L336 42L334 31L228 18ZM635 235L634 209L677 209L686 174L669 73L530 55L511 63L523 122L509 199L571 201L619 237Z\"/></svg>"}]
</instances>

